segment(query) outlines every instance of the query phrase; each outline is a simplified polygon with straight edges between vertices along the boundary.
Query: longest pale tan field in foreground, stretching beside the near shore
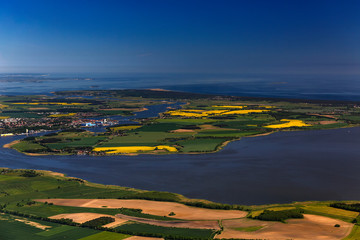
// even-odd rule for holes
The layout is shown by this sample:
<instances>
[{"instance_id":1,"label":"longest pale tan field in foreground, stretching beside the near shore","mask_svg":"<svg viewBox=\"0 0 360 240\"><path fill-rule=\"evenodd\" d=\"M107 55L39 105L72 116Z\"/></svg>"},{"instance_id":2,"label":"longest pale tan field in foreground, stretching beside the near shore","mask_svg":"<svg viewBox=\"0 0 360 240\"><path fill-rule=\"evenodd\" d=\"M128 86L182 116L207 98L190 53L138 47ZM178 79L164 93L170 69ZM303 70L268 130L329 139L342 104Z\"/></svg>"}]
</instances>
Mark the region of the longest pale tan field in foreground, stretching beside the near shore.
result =
<instances>
[{"instance_id":1,"label":"longest pale tan field in foreground, stretching beside the near shore","mask_svg":"<svg viewBox=\"0 0 360 240\"><path fill-rule=\"evenodd\" d=\"M174 202L159 202L149 200L130 199L38 199L39 202L49 202L55 205L90 207L90 208L140 208L143 213L168 216L174 212L174 218L184 220L218 220L243 218L247 212L239 210L214 210L206 208L190 207Z\"/></svg>"}]
</instances>

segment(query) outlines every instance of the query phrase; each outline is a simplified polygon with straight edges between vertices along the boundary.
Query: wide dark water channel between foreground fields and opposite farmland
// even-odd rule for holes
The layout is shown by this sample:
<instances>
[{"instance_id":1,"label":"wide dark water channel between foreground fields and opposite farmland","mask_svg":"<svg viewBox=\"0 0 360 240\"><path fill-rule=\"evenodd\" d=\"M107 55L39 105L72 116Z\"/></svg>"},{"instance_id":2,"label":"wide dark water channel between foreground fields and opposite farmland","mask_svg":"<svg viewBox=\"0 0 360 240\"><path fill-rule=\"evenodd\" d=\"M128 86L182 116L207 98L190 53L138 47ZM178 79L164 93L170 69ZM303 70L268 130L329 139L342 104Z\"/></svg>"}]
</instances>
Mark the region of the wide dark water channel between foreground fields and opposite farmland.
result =
<instances>
[{"instance_id":1,"label":"wide dark water channel between foreground fields and opposite farmland","mask_svg":"<svg viewBox=\"0 0 360 240\"><path fill-rule=\"evenodd\" d=\"M0 144L20 137L0 138ZM26 156L0 148L0 166L238 204L360 200L360 128L243 138L212 154Z\"/></svg>"}]
</instances>

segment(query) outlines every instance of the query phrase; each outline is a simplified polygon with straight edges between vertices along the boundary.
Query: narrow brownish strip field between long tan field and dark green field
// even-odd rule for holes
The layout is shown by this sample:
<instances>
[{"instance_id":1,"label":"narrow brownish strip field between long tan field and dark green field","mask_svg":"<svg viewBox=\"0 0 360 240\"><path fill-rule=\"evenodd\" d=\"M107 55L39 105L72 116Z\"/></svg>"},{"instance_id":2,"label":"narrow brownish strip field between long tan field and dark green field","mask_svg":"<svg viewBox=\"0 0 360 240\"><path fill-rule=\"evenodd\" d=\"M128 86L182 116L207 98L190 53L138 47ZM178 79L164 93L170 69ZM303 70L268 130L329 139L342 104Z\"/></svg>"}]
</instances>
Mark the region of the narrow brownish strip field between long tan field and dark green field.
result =
<instances>
[{"instance_id":1,"label":"narrow brownish strip field between long tan field and dark green field","mask_svg":"<svg viewBox=\"0 0 360 240\"><path fill-rule=\"evenodd\" d=\"M162 221L162 220L154 220L154 219L147 219L147 218L139 218L139 217L132 217L123 214L116 214L116 217L135 221L140 223L146 223L150 225L156 225L161 227L176 227L176 228L199 228L199 229L216 229L220 230L219 224L216 220L208 220L208 221Z\"/></svg>"}]
</instances>

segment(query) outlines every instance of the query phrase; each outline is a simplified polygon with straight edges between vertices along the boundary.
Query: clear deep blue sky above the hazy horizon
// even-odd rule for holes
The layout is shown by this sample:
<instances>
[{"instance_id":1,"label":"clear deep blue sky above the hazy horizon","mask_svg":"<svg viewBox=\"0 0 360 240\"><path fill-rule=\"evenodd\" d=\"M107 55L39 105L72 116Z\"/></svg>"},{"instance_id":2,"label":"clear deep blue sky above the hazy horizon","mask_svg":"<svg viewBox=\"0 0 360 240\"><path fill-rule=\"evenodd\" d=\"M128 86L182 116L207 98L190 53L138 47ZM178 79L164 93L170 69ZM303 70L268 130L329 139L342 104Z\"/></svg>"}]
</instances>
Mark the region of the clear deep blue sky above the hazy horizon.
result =
<instances>
[{"instance_id":1,"label":"clear deep blue sky above the hazy horizon","mask_svg":"<svg viewBox=\"0 0 360 240\"><path fill-rule=\"evenodd\" d=\"M0 1L0 72L359 69L358 0Z\"/></svg>"}]
</instances>

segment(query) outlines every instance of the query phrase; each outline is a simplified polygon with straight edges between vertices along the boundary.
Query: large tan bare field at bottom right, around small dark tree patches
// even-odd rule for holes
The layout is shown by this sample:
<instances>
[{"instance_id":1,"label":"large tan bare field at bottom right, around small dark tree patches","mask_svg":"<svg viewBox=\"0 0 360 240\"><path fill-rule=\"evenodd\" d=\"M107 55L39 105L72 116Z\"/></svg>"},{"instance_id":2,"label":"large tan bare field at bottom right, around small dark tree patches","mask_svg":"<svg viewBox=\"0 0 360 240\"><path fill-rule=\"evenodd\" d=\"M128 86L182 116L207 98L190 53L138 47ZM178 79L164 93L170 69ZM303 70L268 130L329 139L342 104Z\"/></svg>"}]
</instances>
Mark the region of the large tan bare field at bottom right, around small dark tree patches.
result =
<instances>
[{"instance_id":1,"label":"large tan bare field at bottom right, around small dark tree patches","mask_svg":"<svg viewBox=\"0 0 360 240\"><path fill-rule=\"evenodd\" d=\"M340 224L339 228L334 227ZM304 219L291 219L286 224L258 220L224 220L225 231L216 238L260 238L269 240L340 240L346 237L353 224L323 216L304 214ZM238 227L264 226L255 232L235 230Z\"/></svg>"}]
</instances>

